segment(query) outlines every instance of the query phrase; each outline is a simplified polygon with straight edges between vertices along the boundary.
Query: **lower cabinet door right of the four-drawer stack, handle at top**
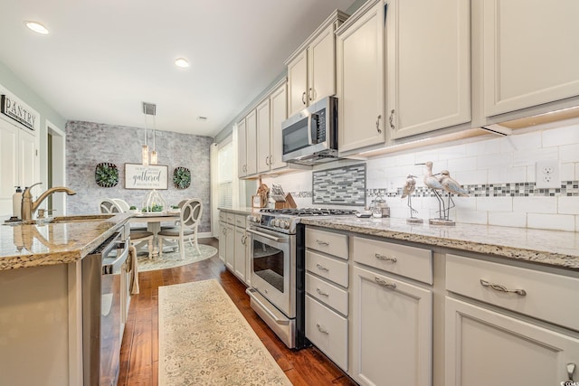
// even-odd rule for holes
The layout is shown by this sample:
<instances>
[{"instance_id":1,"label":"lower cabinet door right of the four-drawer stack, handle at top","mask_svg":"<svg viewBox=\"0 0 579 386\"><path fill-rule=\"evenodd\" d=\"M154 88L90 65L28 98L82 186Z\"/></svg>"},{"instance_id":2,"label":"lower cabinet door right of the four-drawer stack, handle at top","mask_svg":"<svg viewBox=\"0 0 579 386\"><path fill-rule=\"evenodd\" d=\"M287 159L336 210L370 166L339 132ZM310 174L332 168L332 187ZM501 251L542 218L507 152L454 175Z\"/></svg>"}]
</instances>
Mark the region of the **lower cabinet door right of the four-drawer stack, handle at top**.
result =
<instances>
[{"instance_id":1,"label":"lower cabinet door right of the four-drawer stack, handle at top","mask_svg":"<svg viewBox=\"0 0 579 386\"><path fill-rule=\"evenodd\" d=\"M356 381L432 384L431 290L355 267L352 306Z\"/></svg>"}]
</instances>

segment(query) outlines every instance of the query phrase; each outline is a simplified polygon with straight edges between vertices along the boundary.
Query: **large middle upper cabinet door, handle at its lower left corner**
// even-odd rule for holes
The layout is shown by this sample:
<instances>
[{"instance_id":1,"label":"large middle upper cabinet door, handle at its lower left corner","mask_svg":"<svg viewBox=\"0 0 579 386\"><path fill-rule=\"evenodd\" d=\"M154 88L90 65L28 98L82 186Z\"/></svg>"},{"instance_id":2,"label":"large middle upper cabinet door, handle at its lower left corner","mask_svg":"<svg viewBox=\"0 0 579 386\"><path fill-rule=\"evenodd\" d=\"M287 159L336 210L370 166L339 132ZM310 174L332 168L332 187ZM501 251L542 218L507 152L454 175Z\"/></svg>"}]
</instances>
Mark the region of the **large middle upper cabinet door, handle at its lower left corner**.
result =
<instances>
[{"instance_id":1,"label":"large middle upper cabinet door, handle at its lower left corner","mask_svg":"<svg viewBox=\"0 0 579 386\"><path fill-rule=\"evenodd\" d=\"M470 121L469 4L388 2L386 125L391 138Z\"/></svg>"}]
</instances>

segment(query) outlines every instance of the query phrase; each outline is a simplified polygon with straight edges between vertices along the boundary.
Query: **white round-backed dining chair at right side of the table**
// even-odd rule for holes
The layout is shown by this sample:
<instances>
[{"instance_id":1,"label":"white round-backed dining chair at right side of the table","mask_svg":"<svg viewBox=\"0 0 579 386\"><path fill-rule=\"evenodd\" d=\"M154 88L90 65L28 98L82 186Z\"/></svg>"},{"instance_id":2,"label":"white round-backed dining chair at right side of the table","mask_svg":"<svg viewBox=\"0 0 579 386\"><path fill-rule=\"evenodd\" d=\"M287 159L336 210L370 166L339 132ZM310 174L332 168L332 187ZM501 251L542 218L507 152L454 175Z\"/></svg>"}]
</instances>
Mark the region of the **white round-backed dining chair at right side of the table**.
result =
<instances>
[{"instance_id":1,"label":"white round-backed dining chair at right side of the table","mask_svg":"<svg viewBox=\"0 0 579 386\"><path fill-rule=\"evenodd\" d=\"M201 254L197 243L197 227L203 214L203 202L198 198L192 198L179 204L181 206L179 224L157 233L160 257L163 256L163 240L177 240L181 259L185 259L185 240L191 242L191 245L197 249L197 253Z\"/></svg>"}]
</instances>

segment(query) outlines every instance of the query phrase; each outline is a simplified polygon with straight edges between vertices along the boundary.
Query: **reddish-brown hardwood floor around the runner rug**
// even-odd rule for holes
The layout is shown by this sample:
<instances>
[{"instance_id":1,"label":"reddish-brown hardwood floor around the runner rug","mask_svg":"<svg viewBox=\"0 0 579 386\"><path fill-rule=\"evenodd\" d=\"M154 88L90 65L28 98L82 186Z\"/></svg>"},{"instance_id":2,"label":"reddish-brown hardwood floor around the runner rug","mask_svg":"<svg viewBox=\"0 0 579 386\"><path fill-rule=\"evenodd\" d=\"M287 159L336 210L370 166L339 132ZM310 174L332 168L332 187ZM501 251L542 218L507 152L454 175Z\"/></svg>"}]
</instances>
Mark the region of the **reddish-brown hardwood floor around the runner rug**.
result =
<instances>
[{"instance_id":1,"label":"reddish-brown hardwood floor around the runner rug","mask_svg":"<svg viewBox=\"0 0 579 386\"><path fill-rule=\"evenodd\" d=\"M218 248L215 239L199 240ZM158 384L158 287L216 279L294 385L356 385L318 349L289 350L250 306L245 286L214 256L183 267L140 272L120 350L119 385Z\"/></svg>"}]
</instances>

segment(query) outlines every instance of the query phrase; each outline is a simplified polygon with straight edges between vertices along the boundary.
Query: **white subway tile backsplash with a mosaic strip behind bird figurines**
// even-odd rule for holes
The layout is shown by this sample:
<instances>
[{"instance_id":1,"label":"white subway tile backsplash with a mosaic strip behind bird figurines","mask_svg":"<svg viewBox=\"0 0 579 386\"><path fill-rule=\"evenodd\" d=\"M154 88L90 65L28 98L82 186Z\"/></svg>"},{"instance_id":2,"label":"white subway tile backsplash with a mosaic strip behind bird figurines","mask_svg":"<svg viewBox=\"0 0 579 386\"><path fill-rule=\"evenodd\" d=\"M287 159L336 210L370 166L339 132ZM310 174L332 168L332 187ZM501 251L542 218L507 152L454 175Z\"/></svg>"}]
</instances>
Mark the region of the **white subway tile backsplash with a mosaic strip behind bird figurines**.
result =
<instances>
[{"instance_id":1,"label":"white subway tile backsplash with a mosaic strip behind bird figurines","mask_svg":"<svg viewBox=\"0 0 579 386\"><path fill-rule=\"evenodd\" d=\"M536 188L536 162L542 160L558 161L561 187ZM423 184L425 167L419 165L426 161L432 161L433 173L451 171L452 178L470 192L469 197L453 197L456 207L451 209L452 220L579 231L578 122L559 124L559 127L550 124L531 133L486 137L478 142L369 159L365 162L365 204L369 205L375 195L381 193L392 217L409 217L407 201L402 200L401 195L406 176L413 174L416 175L413 208L418 210L418 217L436 218L438 202ZM318 206L312 200L316 190L311 184L311 171L264 180L265 184L271 182L281 184L300 207Z\"/></svg>"}]
</instances>

